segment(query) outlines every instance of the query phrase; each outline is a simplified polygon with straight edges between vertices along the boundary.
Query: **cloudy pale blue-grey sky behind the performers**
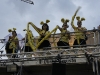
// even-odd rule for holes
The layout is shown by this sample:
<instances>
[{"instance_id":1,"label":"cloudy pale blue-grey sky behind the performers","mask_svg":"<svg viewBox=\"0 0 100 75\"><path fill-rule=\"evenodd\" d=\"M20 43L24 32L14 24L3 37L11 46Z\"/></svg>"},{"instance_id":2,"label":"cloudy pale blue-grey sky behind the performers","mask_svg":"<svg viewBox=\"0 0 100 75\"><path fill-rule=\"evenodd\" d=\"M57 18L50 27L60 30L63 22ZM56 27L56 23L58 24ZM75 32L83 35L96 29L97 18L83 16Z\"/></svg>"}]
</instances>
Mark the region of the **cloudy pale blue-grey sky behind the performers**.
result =
<instances>
[{"instance_id":1,"label":"cloudy pale blue-grey sky behind the performers","mask_svg":"<svg viewBox=\"0 0 100 75\"><path fill-rule=\"evenodd\" d=\"M50 20L49 30L51 31L56 25L62 26L61 18L69 19L74 12L81 6L77 16L84 17L83 27L88 30L93 29L100 24L100 0L31 0L34 5L25 3L21 0L0 0L0 39L9 34L8 29L16 28L17 33L23 37L27 28L27 23L32 22L41 28L40 22L46 19ZM73 31L69 24L69 31ZM76 20L75 20L76 25ZM77 25L76 25L77 26ZM38 33L30 26L34 36ZM59 32L59 30L57 31ZM3 44L0 44L2 47Z\"/></svg>"}]
</instances>

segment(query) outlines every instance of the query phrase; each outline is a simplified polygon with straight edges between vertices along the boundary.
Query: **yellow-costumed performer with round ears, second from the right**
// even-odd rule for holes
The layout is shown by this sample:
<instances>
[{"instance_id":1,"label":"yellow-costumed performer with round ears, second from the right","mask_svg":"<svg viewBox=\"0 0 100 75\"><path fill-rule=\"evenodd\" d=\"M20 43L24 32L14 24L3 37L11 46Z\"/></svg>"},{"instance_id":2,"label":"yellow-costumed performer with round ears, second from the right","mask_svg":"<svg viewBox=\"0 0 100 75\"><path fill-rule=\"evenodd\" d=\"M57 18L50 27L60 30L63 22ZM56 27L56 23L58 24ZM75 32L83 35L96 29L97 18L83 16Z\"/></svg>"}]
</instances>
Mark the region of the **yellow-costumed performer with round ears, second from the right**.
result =
<instances>
[{"instance_id":1,"label":"yellow-costumed performer with round ears, second from the right","mask_svg":"<svg viewBox=\"0 0 100 75\"><path fill-rule=\"evenodd\" d=\"M58 26L58 29L61 31L61 38L60 40L57 42L57 46L69 46L69 40L70 40L70 34L69 31L67 30L67 28L69 27L69 25L67 24L69 22L68 19L61 19L61 22L63 23L62 28ZM67 49L69 47L62 47L62 49Z\"/></svg>"}]
</instances>

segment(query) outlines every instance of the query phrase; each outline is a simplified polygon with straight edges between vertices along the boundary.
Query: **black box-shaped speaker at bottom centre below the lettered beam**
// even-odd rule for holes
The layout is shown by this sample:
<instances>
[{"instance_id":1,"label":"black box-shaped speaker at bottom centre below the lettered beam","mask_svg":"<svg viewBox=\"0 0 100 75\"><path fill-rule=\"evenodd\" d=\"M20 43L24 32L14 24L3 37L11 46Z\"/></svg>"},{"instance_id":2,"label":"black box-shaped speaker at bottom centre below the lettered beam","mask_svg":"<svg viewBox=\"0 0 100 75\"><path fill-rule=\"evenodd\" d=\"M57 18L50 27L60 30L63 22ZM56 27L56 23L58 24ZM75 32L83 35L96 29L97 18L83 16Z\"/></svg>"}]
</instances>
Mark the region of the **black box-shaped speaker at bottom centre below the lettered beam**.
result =
<instances>
[{"instance_id":1,"label":"black box-shaped speaker at bottom centre below the lettered beam","mask_svg":"<svg viewBox=\"0 0 100 75\"><path fill-rule=\"evenodd\" d=\"M66 75L66 64L53 63L52 75Z\"/></svg>"}]
</instances>

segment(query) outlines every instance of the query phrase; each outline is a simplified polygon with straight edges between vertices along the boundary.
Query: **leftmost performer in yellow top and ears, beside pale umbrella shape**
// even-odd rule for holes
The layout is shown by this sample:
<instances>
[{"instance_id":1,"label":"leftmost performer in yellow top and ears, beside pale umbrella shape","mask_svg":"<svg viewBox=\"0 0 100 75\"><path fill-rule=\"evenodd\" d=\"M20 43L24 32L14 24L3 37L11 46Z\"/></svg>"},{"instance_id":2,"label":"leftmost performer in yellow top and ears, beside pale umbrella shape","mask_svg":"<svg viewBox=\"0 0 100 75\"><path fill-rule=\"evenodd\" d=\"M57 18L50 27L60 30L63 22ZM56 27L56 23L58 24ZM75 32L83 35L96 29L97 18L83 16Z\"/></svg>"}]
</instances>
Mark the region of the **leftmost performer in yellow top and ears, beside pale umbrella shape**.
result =
<instances>
[{"instance_id":1,"label":"leftmost performer in yellow top and ears, beside pale umbrella shape","mask_svg":"<svg viewBox=\"0 0 100 75\"><path fill-rule=\"evenodd\" d=\"M20 46L19 46L19 41L17 38L16 28L13 28L13 30L9 29L8 31L12 33L12 36L9 36L8 42L6 43L6 46L5 46L6 53L7 54L18 53ZM8 55L8 58L10 57L11 56ZM12 57L16 58L18 57L18 55L13 55Z\"/></svg>"}]
</instances>

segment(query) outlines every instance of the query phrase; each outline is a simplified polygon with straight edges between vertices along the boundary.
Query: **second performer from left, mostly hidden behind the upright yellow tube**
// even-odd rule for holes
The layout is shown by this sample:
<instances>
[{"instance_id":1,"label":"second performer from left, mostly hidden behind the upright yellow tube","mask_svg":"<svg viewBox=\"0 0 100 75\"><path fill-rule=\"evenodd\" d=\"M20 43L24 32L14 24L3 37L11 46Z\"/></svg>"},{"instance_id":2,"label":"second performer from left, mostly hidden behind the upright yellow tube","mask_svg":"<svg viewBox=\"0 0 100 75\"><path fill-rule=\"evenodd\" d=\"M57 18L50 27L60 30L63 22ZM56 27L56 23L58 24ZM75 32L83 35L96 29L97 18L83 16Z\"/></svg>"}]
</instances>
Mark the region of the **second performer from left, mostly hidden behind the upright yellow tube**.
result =
<instances>
[{"instance_id":1,"label":"second performer from left, mostly hidden behind the upright yellow tube","mask_svg":"<svg viewBox=\"0 0 100 75\"><path fill-rule=\"evenodd\" d=\"M24 29L23 31L27 31L26 29ZM32 31L29 30L29 33L32 35ZM32 48L30 47L30 44L28 42L28 33L26 33L25 38L23 38L22 40L25 40L25 46L22 48L23 52L33 52ZM33 35L32 38L30 38L33 42ZM27 54L26 57L32 57L32 54Z\"/></svg>"}]
</instances>

